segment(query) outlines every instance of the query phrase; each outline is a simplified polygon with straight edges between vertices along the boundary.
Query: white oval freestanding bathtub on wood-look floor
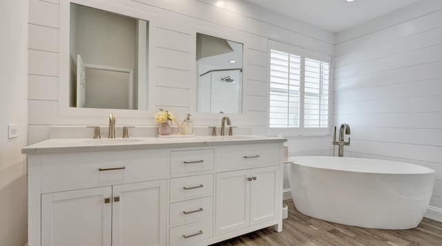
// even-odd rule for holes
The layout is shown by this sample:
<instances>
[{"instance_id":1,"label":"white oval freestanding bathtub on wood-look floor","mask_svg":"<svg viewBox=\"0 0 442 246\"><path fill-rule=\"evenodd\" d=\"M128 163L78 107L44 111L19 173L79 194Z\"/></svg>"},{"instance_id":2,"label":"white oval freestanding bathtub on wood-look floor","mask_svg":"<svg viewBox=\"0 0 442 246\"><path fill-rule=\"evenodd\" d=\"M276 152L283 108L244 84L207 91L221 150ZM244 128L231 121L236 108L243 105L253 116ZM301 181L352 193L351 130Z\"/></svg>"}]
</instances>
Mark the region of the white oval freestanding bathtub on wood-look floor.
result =
<instances>
[{"instance_id":1,"label":"white oval freestanding bathtub on wood-look floor","mask_svg":"<svg viewBox=\"0 0 442 246\"><path fill-rule=\"evenodd\" d=\"M432 196L434 170L364 158L289 158L289 182L302 214L344 225L410 229Z\"/></svg>"}]
</instances>

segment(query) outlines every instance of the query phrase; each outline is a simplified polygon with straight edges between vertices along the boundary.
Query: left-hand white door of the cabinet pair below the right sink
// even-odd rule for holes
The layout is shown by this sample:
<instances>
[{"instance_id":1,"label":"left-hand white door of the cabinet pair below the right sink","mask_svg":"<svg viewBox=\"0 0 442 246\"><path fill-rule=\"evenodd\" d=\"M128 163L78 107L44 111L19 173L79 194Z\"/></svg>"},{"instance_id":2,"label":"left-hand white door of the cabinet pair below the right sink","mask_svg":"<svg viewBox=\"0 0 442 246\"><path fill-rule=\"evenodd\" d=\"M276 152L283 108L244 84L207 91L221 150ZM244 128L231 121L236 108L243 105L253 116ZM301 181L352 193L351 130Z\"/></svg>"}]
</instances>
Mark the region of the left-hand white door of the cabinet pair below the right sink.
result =
<instances>
[{"instance_id":1,"label":"left-hand white door of the cabinet pair below the right sink","mask_svg":"<svg viewBox=\"0 0 442 246\"><path fill-rule=\"evenodd\" d=\"M250 170L216 174L215 234L249 227Z\"/></svg>"}]
</instances>

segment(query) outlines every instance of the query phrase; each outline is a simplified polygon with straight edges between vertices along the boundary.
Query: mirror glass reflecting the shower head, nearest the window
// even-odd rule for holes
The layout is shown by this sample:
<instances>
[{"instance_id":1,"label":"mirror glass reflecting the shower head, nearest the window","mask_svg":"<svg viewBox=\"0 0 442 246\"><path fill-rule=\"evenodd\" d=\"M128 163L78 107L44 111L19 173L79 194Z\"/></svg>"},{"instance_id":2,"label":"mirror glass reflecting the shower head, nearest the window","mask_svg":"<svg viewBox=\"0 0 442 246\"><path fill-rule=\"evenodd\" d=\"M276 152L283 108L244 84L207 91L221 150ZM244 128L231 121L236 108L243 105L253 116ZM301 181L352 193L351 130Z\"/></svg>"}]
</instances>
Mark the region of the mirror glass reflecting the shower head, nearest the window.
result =
<instances>
[{"instance_id":1,"label":"mirror glass reflecting the shower head, nearest the window","mask_svg":"<svg viewBox=\"0 0 442 246\"><path fill-rule=\"evenodd\" d=\"M242 46L196 34L198 112L242 113Z\"/></svg>"}]
</instances>

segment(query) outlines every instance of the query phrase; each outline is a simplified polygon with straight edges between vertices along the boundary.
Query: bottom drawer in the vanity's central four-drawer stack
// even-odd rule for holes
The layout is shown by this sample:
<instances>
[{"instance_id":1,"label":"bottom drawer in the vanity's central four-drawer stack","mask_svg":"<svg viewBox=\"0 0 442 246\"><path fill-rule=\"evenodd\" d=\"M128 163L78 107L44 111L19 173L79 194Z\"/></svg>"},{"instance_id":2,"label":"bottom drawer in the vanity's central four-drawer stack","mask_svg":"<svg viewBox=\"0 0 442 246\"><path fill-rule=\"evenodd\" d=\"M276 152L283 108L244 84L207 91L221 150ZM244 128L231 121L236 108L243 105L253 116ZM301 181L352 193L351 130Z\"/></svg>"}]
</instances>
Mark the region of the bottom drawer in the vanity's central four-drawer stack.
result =
<instances>
[{"instance_id":1,"label":"bottom drawer in the vanity's central four-drawer stack","mask_svg":"<svg viewBox=\"0 0 442 246\"><path fill-rule=\"evenodd\" d=\"M169 245L180 246L211 238L213 235L213 217L180 225L169 230Z\"/></svg>"}]
</instances>

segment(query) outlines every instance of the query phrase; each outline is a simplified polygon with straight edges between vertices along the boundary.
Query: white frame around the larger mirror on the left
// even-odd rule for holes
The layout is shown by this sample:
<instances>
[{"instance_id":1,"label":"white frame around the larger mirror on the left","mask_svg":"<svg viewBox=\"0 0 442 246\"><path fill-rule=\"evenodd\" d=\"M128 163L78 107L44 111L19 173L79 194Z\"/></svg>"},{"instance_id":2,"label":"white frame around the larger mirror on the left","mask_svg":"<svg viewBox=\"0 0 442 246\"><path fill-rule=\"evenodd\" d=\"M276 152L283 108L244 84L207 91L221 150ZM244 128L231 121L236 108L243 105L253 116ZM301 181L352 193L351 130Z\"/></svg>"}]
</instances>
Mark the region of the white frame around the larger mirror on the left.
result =
<instances>
[{"instance_id":1,"label":"white frame around the larger mirror on the left","mask_svg":"<svg viewBox=\"0 0 442 246\"><path fill-rule=\"evenodd\" d=\"M148 21L148 56L147 59L147 86L143 88L147 91L147 109L114 109L114 108L74 108L69 106L69 74L70 74L70 3L88 6L118 15L144 19ZM60 0L59 5L59 92L58 92L58 111L59 115L66 116L89 116L106 115L112 111L120 117L146 117L152 115L149 113L155 111L155 46L157 28L155 15L148 12L140 12L124 6L118 6L113 3L104 3L96 0ZM146 83L144 83L146 84Z\"/></svg>"}]
</instances>

